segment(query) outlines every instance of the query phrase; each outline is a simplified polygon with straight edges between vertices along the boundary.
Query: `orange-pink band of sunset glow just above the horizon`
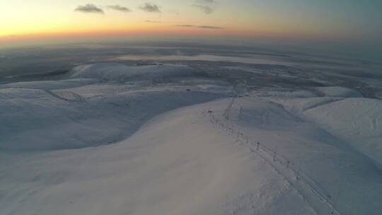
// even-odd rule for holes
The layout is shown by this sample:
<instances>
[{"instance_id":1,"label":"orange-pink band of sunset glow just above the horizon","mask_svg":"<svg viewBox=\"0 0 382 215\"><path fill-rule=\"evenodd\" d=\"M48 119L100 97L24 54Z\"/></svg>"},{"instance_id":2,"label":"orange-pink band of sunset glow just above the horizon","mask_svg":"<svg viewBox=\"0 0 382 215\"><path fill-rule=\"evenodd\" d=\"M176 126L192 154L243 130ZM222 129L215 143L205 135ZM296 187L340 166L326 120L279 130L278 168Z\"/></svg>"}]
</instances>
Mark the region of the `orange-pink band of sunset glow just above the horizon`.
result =
<instances>
[{"instance_id":1,"label":"orange-pink band of sunset glow just above the horizon","mask_svg":"<svg viewBox=\"0 0 382 215\"><path fill-rule=\"evenodd\" d=\"M284 39L299 39L310 38L314 40L326 40L329 36L325 35L317 36L314 34L302 34L302 33L283 33L270 32L269 30L240 30L240 29L222 29L222 30L210 30L202 28L184 28L177 26L168 26L167 28L138 28L134 30L79 30L79 31L57 31L52 33L30 33L24 35L8 35L0 36L0 46L3 43L12 42L28 42L28 41L40 41L49 40L51 42L60 40L71 41L76 39L112 39L117 37L185 37L185 36L205 36L205 37L267 37L267 38L284 38ZM330 35L332 38L333 35Z\"/></svg>"}]
</instances>

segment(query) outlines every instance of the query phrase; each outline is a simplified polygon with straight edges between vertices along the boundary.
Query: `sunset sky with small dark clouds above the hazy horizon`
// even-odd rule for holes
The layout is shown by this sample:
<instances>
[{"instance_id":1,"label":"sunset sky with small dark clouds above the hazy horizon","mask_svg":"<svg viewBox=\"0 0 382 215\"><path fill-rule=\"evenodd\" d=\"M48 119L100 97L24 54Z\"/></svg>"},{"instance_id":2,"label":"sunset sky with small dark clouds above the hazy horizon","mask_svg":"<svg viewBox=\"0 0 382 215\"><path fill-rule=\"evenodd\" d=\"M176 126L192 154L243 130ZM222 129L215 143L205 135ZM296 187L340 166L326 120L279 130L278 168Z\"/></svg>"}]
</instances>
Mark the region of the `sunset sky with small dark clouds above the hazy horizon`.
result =
<instances>
[{"instance_id":1,"label":"sunset sky with small dark clouds above the hazy horizon","mask_svg":"<svg viewBox=\"0 0 382 215\"><path fill-rule=\"evenodd\" d=\"M380 0L1 0L0 42L94 35L377 41Z\"/></svg>"}]
</instances>

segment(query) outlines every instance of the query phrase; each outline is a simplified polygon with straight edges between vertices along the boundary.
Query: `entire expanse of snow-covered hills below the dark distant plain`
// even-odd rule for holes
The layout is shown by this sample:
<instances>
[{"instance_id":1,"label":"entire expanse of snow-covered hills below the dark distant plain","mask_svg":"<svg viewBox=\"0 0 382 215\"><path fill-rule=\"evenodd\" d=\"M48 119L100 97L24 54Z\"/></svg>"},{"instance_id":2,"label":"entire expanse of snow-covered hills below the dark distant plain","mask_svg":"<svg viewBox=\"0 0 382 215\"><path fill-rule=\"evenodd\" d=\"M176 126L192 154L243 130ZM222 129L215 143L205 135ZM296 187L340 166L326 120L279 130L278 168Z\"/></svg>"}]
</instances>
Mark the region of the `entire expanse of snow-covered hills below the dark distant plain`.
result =
<instances>
[{"instance_id":1,"label":"entire expanse of snow-covered hills below the dark distant plain","mask_svg":"<svg viewBox=\"0 0 382 215\"><path fill-rule=\"evenodd\" d=\"M254 76L257 73L252 73ZM185 65L0 85L0 214L382 214L382 100Z\"/></svg>"}]
</instances>

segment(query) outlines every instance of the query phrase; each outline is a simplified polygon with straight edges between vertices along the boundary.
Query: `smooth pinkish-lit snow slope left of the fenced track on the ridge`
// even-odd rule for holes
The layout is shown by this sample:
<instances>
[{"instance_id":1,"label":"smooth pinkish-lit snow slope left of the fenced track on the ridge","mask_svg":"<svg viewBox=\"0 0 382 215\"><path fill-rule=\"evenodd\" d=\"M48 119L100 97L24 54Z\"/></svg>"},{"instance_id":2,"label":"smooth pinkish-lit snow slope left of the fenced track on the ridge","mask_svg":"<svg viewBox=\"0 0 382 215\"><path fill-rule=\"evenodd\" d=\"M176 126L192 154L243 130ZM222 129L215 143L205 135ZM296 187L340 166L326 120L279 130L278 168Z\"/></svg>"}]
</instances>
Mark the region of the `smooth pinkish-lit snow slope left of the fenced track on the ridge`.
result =
<instances>
[{"instance_id":1,"label":"smooth pinkish-lit snow slope left of the fenced track on the ridge","mask_svg":"<svg viewBox=\"0 0 382 215\"><path fill-rule=\"evenodd\" d=\"M1 156L2 214L316 214L201 115L213 105L155 117L109 146Z\"/></svg>"}]
</instances>

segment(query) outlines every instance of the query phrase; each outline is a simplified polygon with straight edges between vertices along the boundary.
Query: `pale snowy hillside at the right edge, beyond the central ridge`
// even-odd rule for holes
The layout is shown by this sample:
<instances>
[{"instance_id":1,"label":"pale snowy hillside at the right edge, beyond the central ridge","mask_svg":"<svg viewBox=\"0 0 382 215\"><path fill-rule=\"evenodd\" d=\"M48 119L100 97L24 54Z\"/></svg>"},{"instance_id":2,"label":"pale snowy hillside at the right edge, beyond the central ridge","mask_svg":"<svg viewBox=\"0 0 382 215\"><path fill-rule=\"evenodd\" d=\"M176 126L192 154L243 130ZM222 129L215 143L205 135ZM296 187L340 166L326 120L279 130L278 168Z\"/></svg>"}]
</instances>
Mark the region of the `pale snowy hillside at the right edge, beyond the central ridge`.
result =
<instances>
[{"instance_id":1,"label":"pale snowy hillside at the right edge, beyond the central ridge","mask_svg":"<svg viewBox=\"0 0 382 215\"><path fill-rule=\"evenodd\" d=\"M382 100L348 98L303 115L382 166Z\"/></svg>"}]
</instances>

